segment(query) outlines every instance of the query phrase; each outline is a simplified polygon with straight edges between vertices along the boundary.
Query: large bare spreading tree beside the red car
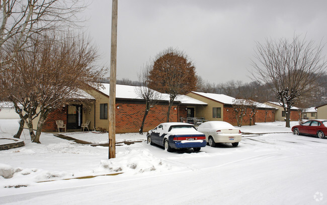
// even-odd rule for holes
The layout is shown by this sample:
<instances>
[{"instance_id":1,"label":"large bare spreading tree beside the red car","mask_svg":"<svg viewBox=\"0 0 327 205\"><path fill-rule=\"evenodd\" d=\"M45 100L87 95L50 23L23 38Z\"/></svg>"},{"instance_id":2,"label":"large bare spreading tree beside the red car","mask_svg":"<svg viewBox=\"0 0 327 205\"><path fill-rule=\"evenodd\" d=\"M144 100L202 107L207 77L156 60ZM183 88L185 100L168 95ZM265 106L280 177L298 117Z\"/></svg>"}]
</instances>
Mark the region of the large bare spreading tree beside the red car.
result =
<instances>
[{"instance_id":1,"label":"large bare spreading tree beside the red car","mask_svg":"<svg viewBox=\"0 0 327 205\"><path fill-rule=\"evenodd\" d=\"M326 64L321 56L321 43L305 41L299 36L289 41L266 40L257 43L253 60L253 77L270 86L281 102L286 114L286 127L290 127L290 110L303 96L316 92L317 76L325 74Z\"/></svg>"}]
</instances>

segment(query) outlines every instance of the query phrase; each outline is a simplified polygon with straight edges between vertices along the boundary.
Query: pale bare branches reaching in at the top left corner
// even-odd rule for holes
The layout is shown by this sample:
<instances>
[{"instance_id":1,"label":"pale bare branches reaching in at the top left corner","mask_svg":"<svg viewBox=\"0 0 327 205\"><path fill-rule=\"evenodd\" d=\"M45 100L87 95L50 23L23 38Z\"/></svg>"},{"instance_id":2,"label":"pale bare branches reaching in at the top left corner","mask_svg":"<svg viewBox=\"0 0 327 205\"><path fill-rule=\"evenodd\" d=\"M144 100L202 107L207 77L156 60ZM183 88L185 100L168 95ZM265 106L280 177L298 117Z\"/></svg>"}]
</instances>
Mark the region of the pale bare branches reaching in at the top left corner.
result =
<instances>
[{"instance_id":1,"label":"pale bare branches reaching in at the top left corner","mask_svg":"<svg viewBox=\"0 0 327 205\"><path fill-rule=\"evenodd\" d=\"M2 0L0 1L0 48L16 38L14 51L20 50L33 34L77 26L76 13L86 8L84 1Z\"/></svg>"}]
</instances>

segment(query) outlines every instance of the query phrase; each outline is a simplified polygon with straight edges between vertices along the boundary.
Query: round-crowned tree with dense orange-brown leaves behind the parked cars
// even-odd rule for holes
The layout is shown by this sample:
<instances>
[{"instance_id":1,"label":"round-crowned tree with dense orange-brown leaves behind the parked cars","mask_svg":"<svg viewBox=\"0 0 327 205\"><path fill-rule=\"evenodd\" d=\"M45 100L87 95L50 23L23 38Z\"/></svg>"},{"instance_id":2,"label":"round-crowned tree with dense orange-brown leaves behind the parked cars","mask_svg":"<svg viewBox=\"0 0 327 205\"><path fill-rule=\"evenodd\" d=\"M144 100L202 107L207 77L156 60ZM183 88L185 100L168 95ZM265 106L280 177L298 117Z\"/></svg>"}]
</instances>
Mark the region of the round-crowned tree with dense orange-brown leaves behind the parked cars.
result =
<instances>
[{"instance_id":1,"label":"round-crowned tree with dense orange-brown leaves behind the parked cars","mask_svg":"<svg viewBox=\"0 0 327 205\"><path fill-rule=\"evenodd\" d=\"M160 52L155 59L153 69L149 72L148 86L169 94L167 112L167 122L169 122L170 111L177 95L196 88L195 66L184 52L173 48Z\"/></svg>"}]
</instances>

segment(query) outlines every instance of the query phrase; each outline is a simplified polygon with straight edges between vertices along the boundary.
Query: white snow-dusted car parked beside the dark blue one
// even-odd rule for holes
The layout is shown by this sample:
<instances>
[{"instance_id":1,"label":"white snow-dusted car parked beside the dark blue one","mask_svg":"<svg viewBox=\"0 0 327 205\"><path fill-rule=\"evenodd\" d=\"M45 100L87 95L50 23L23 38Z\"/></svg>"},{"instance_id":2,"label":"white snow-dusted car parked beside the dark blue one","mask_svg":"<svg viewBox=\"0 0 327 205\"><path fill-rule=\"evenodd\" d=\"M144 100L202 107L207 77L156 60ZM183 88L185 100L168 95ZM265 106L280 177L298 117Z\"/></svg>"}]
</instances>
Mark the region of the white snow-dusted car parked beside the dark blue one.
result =
<instances>
[{"instance_id":1,"label":"white snow-dusted car parked beside the dark blue one","mask_svg":"<svg viewBox=\"0 0 327 205\"><path fill-rule=\"evenodd\" d=\"M242 138L239 129L222 121L205 122L199 125L197 130L205 134L206 140L211 147L215 147L216 143L231 143L232 146L237 147Z\"/></svg>"}]
</instances>

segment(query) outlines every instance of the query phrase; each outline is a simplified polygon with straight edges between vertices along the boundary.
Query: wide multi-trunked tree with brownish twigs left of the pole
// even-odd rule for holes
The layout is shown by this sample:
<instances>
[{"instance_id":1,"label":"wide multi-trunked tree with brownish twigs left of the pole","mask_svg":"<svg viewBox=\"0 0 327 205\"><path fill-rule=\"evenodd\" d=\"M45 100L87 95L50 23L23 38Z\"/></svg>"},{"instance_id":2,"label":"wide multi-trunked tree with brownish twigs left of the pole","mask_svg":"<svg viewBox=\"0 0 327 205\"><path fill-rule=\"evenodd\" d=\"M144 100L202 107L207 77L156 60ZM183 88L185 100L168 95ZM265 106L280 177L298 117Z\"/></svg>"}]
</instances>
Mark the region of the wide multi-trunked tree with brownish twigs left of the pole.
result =
<instances>
[{"instance_id":1,"label":"wide multi-trunked tree with brownish twigs left of the pole","mask_svg":"<svg viewBox=\"0 0 327 205\"><path fill-rule=\"evenodd\" d=\"M14 102L16 112L30 131L32 142L40 143L43 123L50 112L80 98L103 74L93 64L97 50L83 37L73 38L58 33L36 35L30 47L15 56L8 49L4 69L0 70L0 86L6 98ZM13 48L13 47L9 47ZM23 111L18 109L23 106ZM33 119L39 117L36 133Z\"/></svg>"}]
</instances>

